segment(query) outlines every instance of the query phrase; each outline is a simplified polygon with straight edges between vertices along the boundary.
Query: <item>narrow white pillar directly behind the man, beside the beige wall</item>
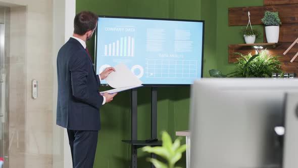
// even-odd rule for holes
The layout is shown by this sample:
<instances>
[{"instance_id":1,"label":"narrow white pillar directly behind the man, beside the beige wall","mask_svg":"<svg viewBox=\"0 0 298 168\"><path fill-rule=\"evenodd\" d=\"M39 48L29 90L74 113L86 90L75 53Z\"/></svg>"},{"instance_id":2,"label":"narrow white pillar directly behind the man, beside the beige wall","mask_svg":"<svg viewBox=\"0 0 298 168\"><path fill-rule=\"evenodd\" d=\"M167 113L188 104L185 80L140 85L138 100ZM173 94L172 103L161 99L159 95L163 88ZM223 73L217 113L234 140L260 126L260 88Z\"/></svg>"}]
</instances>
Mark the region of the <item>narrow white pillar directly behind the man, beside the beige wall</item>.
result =
<instances>
[{"instance_id":1,"label":"narrow white pillar directly behind the man, beside the beige wall","mask_svg":"<svg viewBox=\"0 0 298 168\"><path fill-rule=\"evenodd\" d=\"M53 108L57 106L57 53L73 33L73 20L75 17L75 0L54 0L54 28L53 28L53 69L54 69L54 92ZM54 157L53 167L71 168L72 160L66 129L55 127L56 109L53 110L54 122ZM55 137L56 135L56 137Z\"/></svg>"}]
</instances>

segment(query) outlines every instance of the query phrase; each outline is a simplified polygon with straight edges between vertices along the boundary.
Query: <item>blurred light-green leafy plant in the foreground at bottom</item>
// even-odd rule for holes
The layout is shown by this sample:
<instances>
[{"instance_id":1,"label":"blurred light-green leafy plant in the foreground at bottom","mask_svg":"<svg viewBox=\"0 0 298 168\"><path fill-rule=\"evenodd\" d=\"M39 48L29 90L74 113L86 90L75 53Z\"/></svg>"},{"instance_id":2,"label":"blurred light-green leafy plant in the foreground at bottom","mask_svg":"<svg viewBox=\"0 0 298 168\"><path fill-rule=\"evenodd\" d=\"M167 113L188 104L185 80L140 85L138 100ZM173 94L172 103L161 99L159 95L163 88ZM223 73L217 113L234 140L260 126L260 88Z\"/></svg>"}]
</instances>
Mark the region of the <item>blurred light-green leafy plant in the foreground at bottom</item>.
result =
<instances>
[{"instance_id":1,"label":"blurred light-green leafy plant in the foreground at bottom","mask_svg":"<svg viewBox=\"0 0 298 168\"><path fill-rule=\"evenodd\" d=\"M142 148L143 151L149 153L155 153L165 160L167 163L159 161L155 158L147 158L148 161L152 162L157 168L181 168L175 167L175 163L182 157L182 153L186 150L186 145L180 146L181 138L177 138L174 143L172 143L172 139L167 132L162 133L162 146L145 146Z\"/></svg>"}]
</instances>

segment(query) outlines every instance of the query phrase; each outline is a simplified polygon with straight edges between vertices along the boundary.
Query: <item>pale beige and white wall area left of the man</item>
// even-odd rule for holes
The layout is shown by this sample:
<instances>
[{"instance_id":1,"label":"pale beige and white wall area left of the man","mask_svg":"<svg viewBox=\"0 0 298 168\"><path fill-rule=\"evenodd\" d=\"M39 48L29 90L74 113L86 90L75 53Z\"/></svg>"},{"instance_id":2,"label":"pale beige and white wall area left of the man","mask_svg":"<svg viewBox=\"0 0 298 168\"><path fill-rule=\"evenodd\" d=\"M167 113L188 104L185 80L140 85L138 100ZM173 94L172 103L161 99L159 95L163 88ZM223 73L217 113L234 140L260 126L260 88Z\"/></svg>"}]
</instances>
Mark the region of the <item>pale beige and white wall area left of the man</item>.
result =
<instances>
[{"instance_id":1,"label":"pale beige and white wall area left of the man","mask_svg":"<svg viewBox=\"0 0 298 168\"><path fill-rule=\"evenodd\" d=\"M56 125L56 58L73 32L75 0L0 0L0 6L11 8L10 167L72 167L66 131Z\"/></svg>"}]
</instances>

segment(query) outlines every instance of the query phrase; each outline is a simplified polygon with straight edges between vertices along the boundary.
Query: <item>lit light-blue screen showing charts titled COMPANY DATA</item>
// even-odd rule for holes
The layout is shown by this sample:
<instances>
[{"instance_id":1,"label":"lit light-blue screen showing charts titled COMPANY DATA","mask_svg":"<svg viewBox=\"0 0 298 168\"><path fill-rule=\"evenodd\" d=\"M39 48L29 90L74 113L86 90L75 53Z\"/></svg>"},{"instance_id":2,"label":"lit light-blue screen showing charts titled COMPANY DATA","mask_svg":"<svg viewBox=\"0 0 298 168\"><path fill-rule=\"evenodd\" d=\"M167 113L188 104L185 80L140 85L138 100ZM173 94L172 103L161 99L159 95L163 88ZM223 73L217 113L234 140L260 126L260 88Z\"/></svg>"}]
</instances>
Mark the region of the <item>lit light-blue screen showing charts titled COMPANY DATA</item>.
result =
<instances>
[{"instance_id":1,"label":"lit light-blue screen showing charts titled COMPANY DATA","mask_svg":"<svg viewBox=\"0 0 298 168\"><path fill-rule=\"evenodd\" d=\"M204 21L100 16L96 74L125 63L143 85L190 85L202 77L203 44Z\"/></svg>"}]
</instances>

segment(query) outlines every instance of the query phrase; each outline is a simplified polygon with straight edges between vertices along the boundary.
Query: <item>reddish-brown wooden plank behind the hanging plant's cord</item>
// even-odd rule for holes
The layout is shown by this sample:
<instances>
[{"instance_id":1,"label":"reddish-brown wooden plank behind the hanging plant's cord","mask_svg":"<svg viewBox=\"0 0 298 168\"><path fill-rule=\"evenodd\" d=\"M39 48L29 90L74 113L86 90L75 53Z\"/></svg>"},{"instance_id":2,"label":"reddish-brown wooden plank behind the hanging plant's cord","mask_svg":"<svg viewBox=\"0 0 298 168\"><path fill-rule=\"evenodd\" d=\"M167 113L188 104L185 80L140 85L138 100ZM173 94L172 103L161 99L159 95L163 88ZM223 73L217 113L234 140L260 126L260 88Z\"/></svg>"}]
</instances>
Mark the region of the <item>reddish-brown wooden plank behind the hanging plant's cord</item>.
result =
<instances>
[{"instance_id":1,"label":"reddish-brown wooden plank behind the hanging plant's cord","mask_svg":"<svg viewBox=\"0 0 298 168\"><path fill-rule=\"evenodd\" d=\"M229 8L229 26L247 25L249 21L247 12L249 11L252 25L262 24L264 7Z\"/></svg>"}]
</instances>

